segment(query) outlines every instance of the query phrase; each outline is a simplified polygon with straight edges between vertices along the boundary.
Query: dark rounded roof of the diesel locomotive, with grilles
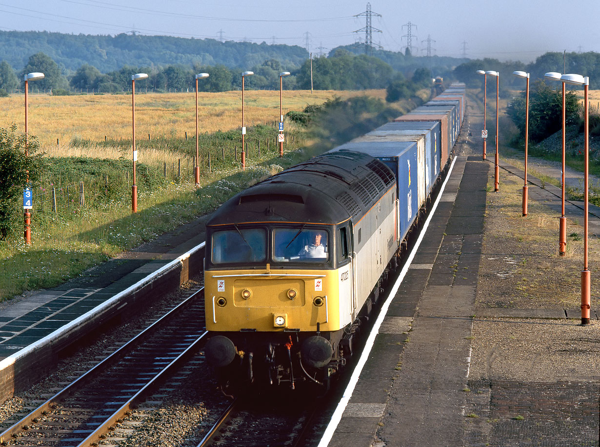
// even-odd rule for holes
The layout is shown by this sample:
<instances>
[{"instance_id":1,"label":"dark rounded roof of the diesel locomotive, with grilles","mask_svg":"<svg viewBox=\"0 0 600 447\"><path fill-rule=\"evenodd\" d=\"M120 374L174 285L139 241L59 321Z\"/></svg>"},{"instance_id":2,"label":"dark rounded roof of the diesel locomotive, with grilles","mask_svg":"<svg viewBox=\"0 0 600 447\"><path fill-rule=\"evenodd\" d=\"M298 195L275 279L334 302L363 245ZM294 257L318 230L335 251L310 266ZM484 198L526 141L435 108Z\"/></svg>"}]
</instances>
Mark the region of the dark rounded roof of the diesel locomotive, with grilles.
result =
<instances>
[{"instance_id":1,"label":"dark rounded roof of the diesel locomotive, with grilles","mask_svg":"<svg viewBox=\"0 0 600 447\"><path fill-rule=\"evenodd\" d=\"M236 194L212 214L207 226L358 220L394 183L394 173L370 155L327 153Z\"/></svg>"}]
</instances>

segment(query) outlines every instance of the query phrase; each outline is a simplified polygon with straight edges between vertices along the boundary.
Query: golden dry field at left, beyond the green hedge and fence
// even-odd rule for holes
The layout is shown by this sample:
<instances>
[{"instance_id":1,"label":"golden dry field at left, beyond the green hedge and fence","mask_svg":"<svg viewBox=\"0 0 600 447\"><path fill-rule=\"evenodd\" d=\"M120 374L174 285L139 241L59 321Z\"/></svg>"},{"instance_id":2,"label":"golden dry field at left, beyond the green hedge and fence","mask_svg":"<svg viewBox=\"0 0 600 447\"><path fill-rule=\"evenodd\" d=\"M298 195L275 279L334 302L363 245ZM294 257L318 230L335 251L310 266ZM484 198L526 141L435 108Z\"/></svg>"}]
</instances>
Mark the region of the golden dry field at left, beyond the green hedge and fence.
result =
<instances>
[{"instance_id":1,"label":"golden dry field at left, beyond the green hedge and fence","mask_svg":"<svg viewBox=\"0 0 600 447\"><path fill-rule=\"evenodd\" d=\"M283 113L302 110L308 104L322 104L334 97L348 98L369 95L385 98L385 90L283 92ZM244 124L252 126L275 122L279 118L278 91L246 91ZM17 131L25 130L24 95L0 98L0 127L12 122ZM198 94L199 132L213 133L241 127L241 92ZM190 93L144 93L136 90L136 138L168 136L183 137L196 133L195 95ZM131 95L29 95L29 133L40 140L42 150L49 155L59 141L59 151L68 152L73 139L92 141L131 139ZM67 146L65 148L65 146ZM86 155L86 154L82 154Z\"/></svg>"}]
</instances>

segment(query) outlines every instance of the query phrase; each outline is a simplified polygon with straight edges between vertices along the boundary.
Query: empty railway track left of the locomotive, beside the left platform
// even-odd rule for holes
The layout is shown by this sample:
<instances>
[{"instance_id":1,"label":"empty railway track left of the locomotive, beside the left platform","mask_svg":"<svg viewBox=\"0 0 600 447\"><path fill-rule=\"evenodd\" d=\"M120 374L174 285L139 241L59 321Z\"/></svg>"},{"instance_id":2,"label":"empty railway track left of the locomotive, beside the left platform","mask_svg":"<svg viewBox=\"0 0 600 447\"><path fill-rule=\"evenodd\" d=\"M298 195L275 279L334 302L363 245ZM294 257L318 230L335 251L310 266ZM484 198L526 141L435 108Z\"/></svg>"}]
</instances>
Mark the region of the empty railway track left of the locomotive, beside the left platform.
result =
<instances>
[{"instance_id":1,"label":"empty railway track left of the locomotive, beside the left platform","mask_svg":"<svg viewBox=\"0 0 600 447\"><path fill-rule=\"evenodd\" d=\"M204 342L203 289L0 433L2 445L88 446Z\"/></svg>"}]
</instances>

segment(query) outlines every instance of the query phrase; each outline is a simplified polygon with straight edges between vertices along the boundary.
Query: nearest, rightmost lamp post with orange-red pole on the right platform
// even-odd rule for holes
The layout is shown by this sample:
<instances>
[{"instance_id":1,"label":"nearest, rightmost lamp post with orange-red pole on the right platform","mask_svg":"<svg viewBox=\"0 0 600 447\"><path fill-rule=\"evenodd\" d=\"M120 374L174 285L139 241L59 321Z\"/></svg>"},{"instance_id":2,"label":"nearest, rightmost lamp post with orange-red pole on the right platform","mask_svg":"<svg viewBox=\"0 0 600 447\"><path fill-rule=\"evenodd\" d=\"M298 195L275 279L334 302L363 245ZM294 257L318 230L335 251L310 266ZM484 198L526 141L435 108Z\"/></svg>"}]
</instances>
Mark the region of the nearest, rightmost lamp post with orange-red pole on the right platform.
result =
<instances>
[{"instance_id":1,"label":"nearest, rightmost lamp post with orange-red pole on the right platform","mask_svg":"<svg viewBox=\"0 0 600 447\"><path fill-rule=\"evenodd\" d=\"M563 74L560 77L563 83L573 85L583 85L583 141L584 141L584 172L583 172L583 271L581 271L581 325L590 324L590 297L592 295L592 274L587 268L587 214L588 214L588 193L589 193L589 102L587 100L590 78L583 77L581 74Z\"/></svg>"}]
</instances>

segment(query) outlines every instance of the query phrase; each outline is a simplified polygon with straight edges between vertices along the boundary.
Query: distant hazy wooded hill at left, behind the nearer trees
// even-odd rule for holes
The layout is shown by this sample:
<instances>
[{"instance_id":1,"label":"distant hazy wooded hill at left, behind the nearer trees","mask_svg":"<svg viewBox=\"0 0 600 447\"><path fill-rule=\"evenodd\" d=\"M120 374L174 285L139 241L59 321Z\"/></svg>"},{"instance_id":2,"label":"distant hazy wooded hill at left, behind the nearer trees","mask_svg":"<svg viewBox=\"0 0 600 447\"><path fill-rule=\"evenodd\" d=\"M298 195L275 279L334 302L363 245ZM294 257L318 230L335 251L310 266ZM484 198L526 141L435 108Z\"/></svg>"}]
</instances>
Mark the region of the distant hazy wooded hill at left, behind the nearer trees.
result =
<instances>
[{"instance_id":1,"label":"distant hazy wooded hill at left, behind the nearer trees","mask_svg":"<svg viewBox=\"0 0 600 447\"><path fill-rule=\"evenodd\" d=\"M220 41L163 35L86 35L47 31L0 31L0 61L23 67L37 52L49 55L65 74L88 64L101 73L124 65L161 67L222 64L226 67L253 67L277 59L288 67L299 67L308 52L296 45Z\"/></svg>"}]
</instances>

